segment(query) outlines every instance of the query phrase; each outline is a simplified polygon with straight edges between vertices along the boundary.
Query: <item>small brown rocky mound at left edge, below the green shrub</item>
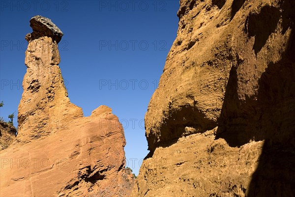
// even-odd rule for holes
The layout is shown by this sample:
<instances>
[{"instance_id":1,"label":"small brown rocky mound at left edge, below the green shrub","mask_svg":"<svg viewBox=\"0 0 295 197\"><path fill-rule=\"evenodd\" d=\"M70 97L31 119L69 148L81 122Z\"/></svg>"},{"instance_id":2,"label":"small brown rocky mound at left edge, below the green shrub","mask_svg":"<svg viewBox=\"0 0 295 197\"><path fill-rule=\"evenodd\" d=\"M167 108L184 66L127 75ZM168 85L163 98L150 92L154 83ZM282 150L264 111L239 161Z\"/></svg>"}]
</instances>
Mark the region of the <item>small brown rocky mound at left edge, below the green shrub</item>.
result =
<instances>
[{"instance_id":1,"label":"small brown rocky mound at left edge, below the green shrub","mask_svg":"<svg viewBox=\"0 0 295 197\"><path fill-rule=\"evenodd\" d=\"M15 141L16 129L13 125L0 121L0 150L7 148Z\"/></svg>"}]
</instances>

